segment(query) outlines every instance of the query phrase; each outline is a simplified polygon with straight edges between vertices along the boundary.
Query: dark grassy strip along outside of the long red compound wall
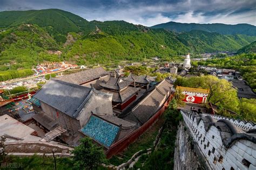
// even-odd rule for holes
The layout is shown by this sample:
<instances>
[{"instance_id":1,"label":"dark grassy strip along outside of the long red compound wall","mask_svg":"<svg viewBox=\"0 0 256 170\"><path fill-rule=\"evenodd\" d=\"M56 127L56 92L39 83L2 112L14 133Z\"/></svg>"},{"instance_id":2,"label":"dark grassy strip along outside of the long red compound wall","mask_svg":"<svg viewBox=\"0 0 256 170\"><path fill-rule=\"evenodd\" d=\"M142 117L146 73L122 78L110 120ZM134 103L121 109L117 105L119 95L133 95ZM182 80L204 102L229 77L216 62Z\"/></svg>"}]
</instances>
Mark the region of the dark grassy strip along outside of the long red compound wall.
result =
<instances>
[{"instance_id":1,"label":"dark grassy strip along outside of the long red compound wall","mask_svg":"<svg viewBox=\"0 0 256 170\"><path fill-rule=\"evenodd\" d=\"M109 162L112 165L120 165L124 162L131 159L132 155L140 150L146 150L153 146L154 140L157 137L158 131L161 126L164 124L165 117L162 115L159 117L158 121L154 123L150 129L142 134L134 143L132 143L129 147L126 148L125 151L120 153L119 155L113 156Z\"/></svg>"}]
</instances>

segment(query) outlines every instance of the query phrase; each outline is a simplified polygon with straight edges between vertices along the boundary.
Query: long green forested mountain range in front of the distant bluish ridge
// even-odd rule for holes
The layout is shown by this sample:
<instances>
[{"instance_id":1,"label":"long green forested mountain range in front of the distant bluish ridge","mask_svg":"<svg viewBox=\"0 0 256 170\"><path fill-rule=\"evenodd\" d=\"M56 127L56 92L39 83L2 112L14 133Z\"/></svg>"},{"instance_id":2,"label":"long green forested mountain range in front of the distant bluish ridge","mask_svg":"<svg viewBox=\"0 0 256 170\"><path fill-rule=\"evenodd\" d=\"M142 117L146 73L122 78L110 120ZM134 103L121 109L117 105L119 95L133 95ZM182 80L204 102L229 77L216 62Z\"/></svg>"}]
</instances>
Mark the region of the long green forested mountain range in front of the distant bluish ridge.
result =
<instances>
[{"instance_id":1,"label":"long green forested mountain range in front of the distant bluish ridge","mask_svg":"<svg viewBox=\"0 0 256 170\"><path fill-rule=\"evenodd\" d=\"M237 51L256 40L245 34L176 33L124 21L87 22L57 9L0 12L0 25L0 76L4 77L10 70L31 69L43 61L66 60L79 65L143 61L153 56Z\"/></svg>"}]
</instances>

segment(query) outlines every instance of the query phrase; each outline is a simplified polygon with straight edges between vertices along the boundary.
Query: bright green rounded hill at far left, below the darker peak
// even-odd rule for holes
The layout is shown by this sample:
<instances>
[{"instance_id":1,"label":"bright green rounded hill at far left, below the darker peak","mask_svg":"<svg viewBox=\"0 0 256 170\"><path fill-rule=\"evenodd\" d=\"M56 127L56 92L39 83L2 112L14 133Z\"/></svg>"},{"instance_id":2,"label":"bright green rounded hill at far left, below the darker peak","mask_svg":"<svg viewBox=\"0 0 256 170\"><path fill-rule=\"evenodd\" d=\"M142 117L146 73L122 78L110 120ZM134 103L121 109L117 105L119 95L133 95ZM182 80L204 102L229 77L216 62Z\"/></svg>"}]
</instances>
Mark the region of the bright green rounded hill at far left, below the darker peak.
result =
<instances>
[{"instance_id":1,"label":"bright green rounded hill at far left, below the darker peak","mask_svg":"<svg viewBox=\"0 0 256 170\"><path fill-rule=\"evenodd\" d=\"M36 25L19 25L0 32L0 70L31 69L37 62L59 60L47 51L59 49L55 39ZM7 64L10 67L7 67Z\"/></svg>"}]
</instances>

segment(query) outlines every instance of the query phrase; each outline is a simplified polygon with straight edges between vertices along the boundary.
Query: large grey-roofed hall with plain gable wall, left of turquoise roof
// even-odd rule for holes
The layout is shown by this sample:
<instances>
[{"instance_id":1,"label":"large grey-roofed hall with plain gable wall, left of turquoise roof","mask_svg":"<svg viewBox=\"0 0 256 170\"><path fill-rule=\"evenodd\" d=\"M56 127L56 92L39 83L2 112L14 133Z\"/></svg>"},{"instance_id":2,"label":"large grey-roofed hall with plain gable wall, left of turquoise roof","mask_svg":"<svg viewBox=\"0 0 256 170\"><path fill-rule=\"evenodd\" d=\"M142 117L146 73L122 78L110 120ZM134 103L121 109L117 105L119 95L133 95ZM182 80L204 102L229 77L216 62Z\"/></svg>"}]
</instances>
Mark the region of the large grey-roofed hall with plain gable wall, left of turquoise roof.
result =
<instances>
[{"instance_id":1,"label":"large grey-roofed hall with plain gable wall, left of turquoise roof","mask_svg":"<svg viewBox=\"0 0 256 170\"><path fill-rule=\"evenodd\" d=\"M70 145L78 143L82 137L78 131L93 113L113 114L112 94L55 79L46 83L30 101L37 125L45 132L62 129L59 135Z\"/></svg>"}]
</instances>

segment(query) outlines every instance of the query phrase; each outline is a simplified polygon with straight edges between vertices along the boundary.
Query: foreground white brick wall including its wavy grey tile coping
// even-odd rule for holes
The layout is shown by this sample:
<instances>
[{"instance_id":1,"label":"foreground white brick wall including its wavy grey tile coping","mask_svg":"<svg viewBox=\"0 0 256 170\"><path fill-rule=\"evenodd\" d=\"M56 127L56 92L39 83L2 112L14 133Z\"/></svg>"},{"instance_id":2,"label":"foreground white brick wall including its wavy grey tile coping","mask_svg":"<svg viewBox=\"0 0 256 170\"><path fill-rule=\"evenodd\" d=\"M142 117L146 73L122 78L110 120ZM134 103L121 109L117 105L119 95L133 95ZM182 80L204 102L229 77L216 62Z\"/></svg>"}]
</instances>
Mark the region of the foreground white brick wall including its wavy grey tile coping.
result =
<instances>
[{"instance_id":1,"label":"foreground white brick wall including its wavy grey tile coping","mask_svg":"<svg viewBox=\"0 0 256 170\"><path fill-rule=\"evenodd\" d=\"M255 130L245 133L227 119L180 112L210 168L256 169Z\"/></svg>"}]
</instances>

